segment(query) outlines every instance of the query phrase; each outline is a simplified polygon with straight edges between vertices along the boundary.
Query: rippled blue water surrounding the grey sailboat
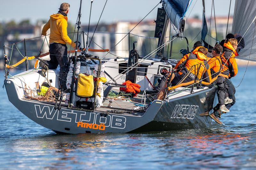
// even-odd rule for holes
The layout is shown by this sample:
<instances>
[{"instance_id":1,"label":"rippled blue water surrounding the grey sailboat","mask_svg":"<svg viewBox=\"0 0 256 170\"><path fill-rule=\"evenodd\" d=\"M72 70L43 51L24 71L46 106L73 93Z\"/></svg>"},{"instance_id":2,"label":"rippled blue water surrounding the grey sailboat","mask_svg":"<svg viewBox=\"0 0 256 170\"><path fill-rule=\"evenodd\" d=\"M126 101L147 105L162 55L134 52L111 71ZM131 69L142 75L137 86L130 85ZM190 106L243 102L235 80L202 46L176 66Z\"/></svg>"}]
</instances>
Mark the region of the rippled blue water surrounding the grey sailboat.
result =
<instances>
[{"instance_id":1,"label":"rippled blue water surrounding the grey sailboat","mask_svg":"<svg viewBox=\"0 0 256 170\"><path fill-rule=\"evenodd\" d=\"M221 118L225 127L213 121L211 128L153 134L56 135L19 112L1 88L0 169L255 169L255 83L251 66L236 104Z\"/></svg>"}]
</instances>

